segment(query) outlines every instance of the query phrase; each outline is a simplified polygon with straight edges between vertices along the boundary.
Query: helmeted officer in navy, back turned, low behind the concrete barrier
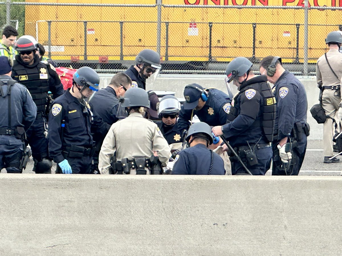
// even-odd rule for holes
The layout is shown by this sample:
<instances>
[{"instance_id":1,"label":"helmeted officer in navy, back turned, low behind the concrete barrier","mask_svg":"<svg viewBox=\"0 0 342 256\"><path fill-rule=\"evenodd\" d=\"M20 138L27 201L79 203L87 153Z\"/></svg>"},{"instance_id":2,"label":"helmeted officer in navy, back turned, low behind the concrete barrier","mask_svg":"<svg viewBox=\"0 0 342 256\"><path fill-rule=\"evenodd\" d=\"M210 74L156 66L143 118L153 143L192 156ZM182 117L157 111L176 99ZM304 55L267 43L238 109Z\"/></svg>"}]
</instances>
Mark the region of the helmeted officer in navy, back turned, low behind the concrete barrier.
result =
<instances>
[{"instance_id":1,"label":"helmeted officer in navy, back turned, low behind the concrete barrier","mask_svg":"<svg viewBox=\"0 0 342 256\"><path fill-rule=\"evenodd\" d=\"M213 143L210 126L203 122L190 126L186 135L188 148L178 152L172 174L224 175L222 158L207 147Z\"/></svg>"}]
</instances>

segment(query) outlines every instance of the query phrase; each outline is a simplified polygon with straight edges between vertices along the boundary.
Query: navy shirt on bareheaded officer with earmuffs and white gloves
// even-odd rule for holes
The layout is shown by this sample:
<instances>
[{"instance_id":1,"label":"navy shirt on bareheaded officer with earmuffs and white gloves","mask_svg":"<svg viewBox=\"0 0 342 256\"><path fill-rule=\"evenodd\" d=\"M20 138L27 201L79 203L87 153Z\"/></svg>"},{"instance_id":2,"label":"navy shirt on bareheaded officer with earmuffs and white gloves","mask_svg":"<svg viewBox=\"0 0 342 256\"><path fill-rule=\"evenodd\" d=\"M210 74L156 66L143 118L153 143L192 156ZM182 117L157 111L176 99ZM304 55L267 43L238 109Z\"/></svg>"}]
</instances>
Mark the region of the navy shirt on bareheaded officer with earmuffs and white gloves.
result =
<instances>
[{"instance_id":1,"label":"navy shirt on bareheaded officer with earmuffs and white gloves","mask_svg":"<svg viewBox=\"0 0 342 256\"><path fill-rule=\"evenodd\" d=\"M295 123L306 123L307 98L304 85L288 70L275 83L277 116L274 130L278 141L290 135Z\"/></svg>"}]
</instances>

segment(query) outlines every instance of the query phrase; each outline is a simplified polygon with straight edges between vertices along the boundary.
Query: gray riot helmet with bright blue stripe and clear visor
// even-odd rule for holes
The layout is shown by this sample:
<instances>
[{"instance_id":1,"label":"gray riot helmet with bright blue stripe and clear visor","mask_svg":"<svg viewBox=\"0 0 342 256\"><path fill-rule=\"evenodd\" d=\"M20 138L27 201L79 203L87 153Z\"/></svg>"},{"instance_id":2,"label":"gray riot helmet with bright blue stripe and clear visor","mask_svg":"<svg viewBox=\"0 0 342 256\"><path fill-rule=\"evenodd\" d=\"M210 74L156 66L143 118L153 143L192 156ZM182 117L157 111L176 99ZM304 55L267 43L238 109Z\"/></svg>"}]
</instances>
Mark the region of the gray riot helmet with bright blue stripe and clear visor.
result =
<instances>
[{"instance_id":1,"label":"gray riot helmet with bright blue stripe and clear visor","mask_svg":"<svg viewBox=\"0 0 342 256\"><path fill-rule=\"evenodd\" d=\"M74 83L81 86L81 88L77 87L81 94L81 98L78 100L82 105L86 106L99 89L98 84L100 83L100 76L98 76L92 68L82 67L74 73L73 84Z\"/></svg>"}]
</instances>

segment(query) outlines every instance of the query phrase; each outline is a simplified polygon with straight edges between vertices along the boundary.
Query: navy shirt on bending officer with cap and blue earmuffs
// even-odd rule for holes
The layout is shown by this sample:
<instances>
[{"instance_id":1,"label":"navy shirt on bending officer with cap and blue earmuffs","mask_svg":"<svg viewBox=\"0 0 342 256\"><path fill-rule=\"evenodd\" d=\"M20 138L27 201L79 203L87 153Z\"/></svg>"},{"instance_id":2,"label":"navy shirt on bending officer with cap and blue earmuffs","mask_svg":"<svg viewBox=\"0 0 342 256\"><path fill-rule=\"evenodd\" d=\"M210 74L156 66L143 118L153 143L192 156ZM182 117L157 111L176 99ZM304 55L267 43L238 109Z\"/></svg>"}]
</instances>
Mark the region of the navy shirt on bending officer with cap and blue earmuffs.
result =
<instances>
[{"instance_id":1,"label":"navy shirt on bending officer with cap and blue earmuffs","mask_svg":"<svg viewBox=\"0 0 342 256\"><path fill-rule=\"evenodd\" d=\"M209 97L205 105L199 111L192 109L184 109L181 107L178 119L178 130L183 135L183 130L190 127L192 111L193 116L197 115L201 122L205 122L210 126L224 125L227 122L231 100L229 96L218 89L209 89Z\"/></svg>"}]
</instances>

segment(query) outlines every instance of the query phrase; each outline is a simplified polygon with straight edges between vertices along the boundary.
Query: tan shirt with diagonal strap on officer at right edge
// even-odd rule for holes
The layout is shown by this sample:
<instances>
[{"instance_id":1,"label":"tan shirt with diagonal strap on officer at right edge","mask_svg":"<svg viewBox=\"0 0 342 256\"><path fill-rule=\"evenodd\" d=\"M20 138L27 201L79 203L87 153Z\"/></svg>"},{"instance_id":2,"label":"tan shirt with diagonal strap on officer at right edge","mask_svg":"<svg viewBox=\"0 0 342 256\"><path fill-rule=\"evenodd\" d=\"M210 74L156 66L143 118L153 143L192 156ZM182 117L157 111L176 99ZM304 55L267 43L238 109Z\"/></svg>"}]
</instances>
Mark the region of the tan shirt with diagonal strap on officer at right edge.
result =
<instances>
[{"instance_id":1,"label":"tan shirt with diagonal strap on officer at right edge","mask_svg":"<svg viewBox=\"0 0 342 256\"><path fill-rule=\"evenodd\" d=\"M330 49L329 52L327 52L327 59L332 70L338 76L338 79L329 68L325 56L322 55L318 58L316 64L317 84L322 86L340 85L342 77L342 53L340 53L337 49Z\"/></svg>"}]
</instances>

